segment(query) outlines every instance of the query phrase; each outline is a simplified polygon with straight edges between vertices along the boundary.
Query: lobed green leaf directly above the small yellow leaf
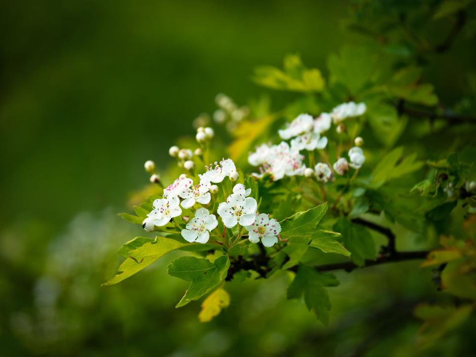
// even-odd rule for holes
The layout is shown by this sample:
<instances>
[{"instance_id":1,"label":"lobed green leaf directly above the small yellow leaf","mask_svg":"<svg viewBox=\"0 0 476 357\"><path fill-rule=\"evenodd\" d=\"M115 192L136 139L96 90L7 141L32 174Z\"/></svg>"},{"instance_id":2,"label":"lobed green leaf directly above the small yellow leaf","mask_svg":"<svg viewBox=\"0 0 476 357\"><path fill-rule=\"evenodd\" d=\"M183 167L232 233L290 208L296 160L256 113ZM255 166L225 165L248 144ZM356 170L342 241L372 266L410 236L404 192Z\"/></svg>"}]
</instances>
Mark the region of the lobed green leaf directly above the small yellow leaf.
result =
<instances>
[{"instance_id":1,"label":"lobed green leaf directly above the small yellow leaf","mask_svg":"<svg viewBox=\"0 0 476 357\"><path fill-rule=\"evenodd\" d=\"M191 284L177 306L182 307L192 300L198 300L220 284L227 276L230 260L222 255L211 263L207 259L194 256L182 256L170 262L167 273Z\"/></svg>"}]
</instances>

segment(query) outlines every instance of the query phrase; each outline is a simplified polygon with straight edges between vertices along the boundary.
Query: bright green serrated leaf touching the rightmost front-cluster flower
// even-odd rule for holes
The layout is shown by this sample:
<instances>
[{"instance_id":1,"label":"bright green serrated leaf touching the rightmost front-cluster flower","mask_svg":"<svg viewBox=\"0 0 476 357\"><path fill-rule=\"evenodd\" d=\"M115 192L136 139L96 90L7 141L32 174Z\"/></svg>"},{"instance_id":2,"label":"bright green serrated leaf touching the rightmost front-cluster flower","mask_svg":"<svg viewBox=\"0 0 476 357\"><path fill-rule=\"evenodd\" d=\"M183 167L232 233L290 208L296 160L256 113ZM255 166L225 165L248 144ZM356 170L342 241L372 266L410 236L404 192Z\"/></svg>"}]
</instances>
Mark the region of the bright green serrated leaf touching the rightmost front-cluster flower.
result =
<instances>
[{"instance_id":1,"label":"bright green serrated leaf touching the rightmost front-cluster flower","mask_svg":"<svg viewBox=\"0 0 476 357\"><path fill-rule=\"evenodd\" d=\"M315 232L317 225L327 212L327 203L318 205L307 211L297 212L281 221L281 237L305 236Z\"/></svg>"}]
</instances>

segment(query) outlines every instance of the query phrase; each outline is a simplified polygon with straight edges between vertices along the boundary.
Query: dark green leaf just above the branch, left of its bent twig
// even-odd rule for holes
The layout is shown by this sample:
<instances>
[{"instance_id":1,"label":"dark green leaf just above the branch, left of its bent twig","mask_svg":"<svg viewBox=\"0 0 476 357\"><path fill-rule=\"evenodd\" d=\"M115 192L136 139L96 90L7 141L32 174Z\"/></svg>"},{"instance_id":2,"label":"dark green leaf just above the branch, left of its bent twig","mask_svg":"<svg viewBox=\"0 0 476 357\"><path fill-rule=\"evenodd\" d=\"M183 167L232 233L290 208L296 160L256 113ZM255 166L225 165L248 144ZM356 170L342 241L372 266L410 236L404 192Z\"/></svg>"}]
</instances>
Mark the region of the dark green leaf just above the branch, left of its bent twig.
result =
<instances>
[{"instance_id":1,"label":"dark green leaf just above the branch, left of its bent twig","mask_svg":"<svg viewBox=\"0 0 476 357\"><path fill-rule=\"evenodd\" d=\"M377 255L375 243L365 227L340 217L335 222L333 230L342 234L344 246L350 251L351 258L357 265L363 266L365 259L375 259Z\"/></svg>"}]
</instances>

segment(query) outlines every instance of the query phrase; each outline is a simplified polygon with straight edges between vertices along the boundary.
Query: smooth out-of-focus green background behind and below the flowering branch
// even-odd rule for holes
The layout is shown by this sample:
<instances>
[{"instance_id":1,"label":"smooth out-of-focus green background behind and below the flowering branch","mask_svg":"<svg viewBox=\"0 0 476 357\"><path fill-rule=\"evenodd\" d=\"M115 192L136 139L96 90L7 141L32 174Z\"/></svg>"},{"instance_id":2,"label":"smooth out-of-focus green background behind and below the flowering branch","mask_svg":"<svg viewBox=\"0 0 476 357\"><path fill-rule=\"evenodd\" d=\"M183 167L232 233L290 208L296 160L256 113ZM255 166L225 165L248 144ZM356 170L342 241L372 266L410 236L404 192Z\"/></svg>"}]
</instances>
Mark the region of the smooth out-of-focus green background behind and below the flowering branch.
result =
<instances>
[{"instance_id":1,"label":"smooth out-of-focus green background behind and below the flowering branch","mask_svg":"<svg viewBox=\"0 0 476 357\"><path fill-rule=\"evenodd\" d=\"M100 287L119 263L116 249L142 233L117 212L129 211L128 198L147 184L143 162L171 164L168 148L194 134L192 120L215 109L217 93L246 103L267 92L250 80L257 65L281 66L286 53L299 53L326 74L328 55L358 41L340 26L347 7L343 0L0 4L0 355L415 353L421 323L412 309L434 289L429 271L401 281L414 262L398 272L339 273L328 328L286 301L286 274L229 284L232 306L207 324L197 319L198 303L174 309L187 284L166 274L167 261ZM459 69L445 70L451 77Z\"/></svg>"}]
</instances>

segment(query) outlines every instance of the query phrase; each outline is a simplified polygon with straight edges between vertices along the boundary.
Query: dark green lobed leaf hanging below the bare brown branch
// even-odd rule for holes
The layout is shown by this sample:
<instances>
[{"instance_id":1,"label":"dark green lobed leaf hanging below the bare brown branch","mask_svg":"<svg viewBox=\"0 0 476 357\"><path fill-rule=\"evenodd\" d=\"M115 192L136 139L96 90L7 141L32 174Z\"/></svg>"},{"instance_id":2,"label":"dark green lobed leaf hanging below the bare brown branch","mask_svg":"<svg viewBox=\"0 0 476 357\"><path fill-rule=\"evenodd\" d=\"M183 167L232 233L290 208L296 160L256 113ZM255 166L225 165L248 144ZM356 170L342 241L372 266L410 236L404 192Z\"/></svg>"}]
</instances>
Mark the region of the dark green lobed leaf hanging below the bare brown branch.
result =
<instances>
[{"instance_id":1,"label":"dark green lobed leaf hanging below the bare brown branch","mask_svg":"<svg viewBox=\"0 0 476 357\"><path fill-rule=\"evenodd\" d=\"M287 289L287 298L299 299L304 295L307 308L314 311L324 325L328 325L331 301L324 287L338 285L339 281L333 274L320 273L312 267L299 265L296 276Z\"/></svg>"}]
</instances>

